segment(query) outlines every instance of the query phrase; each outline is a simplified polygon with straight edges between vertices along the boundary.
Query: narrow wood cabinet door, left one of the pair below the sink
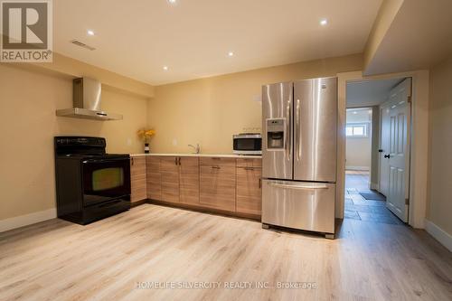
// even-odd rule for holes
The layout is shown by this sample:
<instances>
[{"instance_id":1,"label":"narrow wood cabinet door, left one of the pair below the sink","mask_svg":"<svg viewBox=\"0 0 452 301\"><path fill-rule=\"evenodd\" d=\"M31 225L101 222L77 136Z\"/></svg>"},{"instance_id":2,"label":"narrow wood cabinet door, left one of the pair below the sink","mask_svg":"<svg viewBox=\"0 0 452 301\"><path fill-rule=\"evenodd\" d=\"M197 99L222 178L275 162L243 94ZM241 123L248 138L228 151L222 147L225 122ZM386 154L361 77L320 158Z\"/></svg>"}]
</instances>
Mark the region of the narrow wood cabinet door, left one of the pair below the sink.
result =
<instances>
[{"instance_id":1,"label":"narrow wood cabinet door, left one of the pair below the sink","mask_svg":"<svg viewBox=\"0 0 452 301\"><path fill-rule=\"evenodd\" d=\"M162 199L165 202L179 202L179 157L162 156L160 158L162 179Z\"/></svg>"}]
</instances>

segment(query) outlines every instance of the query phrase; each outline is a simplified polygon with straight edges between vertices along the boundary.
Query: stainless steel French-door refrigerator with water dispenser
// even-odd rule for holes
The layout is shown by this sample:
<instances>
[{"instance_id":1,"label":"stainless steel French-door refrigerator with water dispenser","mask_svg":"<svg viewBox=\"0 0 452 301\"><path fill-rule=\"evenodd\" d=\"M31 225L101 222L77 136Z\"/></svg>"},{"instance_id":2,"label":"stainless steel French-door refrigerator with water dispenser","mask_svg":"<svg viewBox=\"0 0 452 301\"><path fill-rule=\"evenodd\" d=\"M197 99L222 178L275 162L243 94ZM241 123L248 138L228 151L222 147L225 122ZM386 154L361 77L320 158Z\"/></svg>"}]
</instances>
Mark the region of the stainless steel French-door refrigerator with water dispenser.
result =
<instances>
[{"instance_id":1,"label":"stainless steel French-door refrigerator with water dispenser","mask_svg":"<svg viewBox=\"0 0 452 301\"><path fill-rule=\"evenodd\" d=\"M262 224L334 238L337 79L262 87Z\"/></svg>"}]
</instances>

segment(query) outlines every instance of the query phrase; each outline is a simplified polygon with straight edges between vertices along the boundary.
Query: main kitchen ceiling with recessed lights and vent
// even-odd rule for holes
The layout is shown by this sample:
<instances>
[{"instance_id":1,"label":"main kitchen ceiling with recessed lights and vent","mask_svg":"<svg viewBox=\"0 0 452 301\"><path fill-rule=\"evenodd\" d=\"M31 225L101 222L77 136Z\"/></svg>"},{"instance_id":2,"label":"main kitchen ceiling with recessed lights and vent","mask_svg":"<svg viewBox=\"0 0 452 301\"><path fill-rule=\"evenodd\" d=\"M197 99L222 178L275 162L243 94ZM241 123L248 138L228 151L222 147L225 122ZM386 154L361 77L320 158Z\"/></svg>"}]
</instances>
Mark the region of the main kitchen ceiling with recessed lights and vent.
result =
<instances>
[{"instance_id":1,"label":"main kitchen ceiling with recessed lights and vent","mask_svg":"<svg viewBox=\"0 0 452 301\"><path fill-rule=\"evenodd\" d=\"M158 85L363 52L380 5L381 0L54 1L54 51ZM326 26L319 24L322 18ZM72 39L96 50L75 46Z\"/></svg>"}]
</instances>

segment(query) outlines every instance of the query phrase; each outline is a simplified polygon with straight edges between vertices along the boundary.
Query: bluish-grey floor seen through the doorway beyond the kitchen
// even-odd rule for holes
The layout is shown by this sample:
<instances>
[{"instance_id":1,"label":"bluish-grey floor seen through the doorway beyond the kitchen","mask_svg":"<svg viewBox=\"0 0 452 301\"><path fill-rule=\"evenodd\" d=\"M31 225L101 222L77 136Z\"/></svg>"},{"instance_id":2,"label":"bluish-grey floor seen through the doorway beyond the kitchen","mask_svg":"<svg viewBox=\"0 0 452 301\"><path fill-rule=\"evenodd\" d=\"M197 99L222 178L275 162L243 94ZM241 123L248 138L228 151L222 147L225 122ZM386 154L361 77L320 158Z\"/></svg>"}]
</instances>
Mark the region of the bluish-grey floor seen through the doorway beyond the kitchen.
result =
<instances>
[{"instance_id":1,"label":"bluish-grey floor seen through the doorway beyond the kitchen","mask_svg":"<svg viewBox=\"0 0 452 301\"><path fill-rule=\"evenodd\" d=\"M358 171L345 172L345 218L402 225L384 201L366 200L360 194L370 192L369 173Z\"/></svg>"}]
</instances>

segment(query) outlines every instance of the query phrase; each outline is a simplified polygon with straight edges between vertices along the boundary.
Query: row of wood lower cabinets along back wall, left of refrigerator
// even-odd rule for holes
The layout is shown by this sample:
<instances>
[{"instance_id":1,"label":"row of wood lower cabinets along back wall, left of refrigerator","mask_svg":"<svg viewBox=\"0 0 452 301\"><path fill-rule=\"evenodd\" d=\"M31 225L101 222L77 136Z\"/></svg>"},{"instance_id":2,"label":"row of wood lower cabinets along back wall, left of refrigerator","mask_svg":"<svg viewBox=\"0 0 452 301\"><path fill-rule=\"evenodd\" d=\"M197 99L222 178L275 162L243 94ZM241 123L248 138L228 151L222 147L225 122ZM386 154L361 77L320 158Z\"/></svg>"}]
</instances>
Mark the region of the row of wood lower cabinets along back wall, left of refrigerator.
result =
<instances>
[{"instance_id":1,"label":"row of wood lower cabinets along back wall, left of refrigerator","mask_svg":"<svg viewBox=\"0 0 452 301\"><path fill-rule=\"evenodd\" d=\"M259 158L149 155L146 166L143 161L140 166L132 168L137 168L137 173L146 173L148 199L253 218L260 215ZM136 172L131 174L134 178ZM138 185L134 187L138 189ZM142 196L137 198L142 198L144 188L139 187Z\"/></svg>"}]
</instances>

